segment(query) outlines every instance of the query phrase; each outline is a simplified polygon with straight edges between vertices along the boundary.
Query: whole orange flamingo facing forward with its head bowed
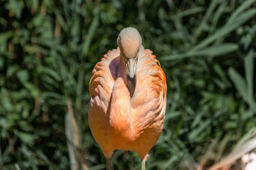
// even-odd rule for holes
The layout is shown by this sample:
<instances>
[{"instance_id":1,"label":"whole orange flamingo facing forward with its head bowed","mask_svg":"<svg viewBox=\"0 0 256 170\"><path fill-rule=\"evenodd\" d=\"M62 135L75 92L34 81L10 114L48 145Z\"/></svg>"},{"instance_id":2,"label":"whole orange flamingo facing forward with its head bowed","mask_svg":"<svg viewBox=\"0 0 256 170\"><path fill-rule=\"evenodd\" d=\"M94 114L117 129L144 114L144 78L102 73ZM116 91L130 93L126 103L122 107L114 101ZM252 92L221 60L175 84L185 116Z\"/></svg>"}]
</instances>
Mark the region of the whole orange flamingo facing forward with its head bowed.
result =
<instances>
[{"instance_id":1,"label":"whole orange flamingo facing forward with its head bowed","mask_svg":"<svg viewBox=\"0 0 256 170\"><path fill-rule=\"evenodd\" d=\"M145 169L148 152L163 129L166 77L156 56L141 45L136 29L123 29L117 43L119 48L93 68L89 125L107 159L107 169L111 169L114 150L137 152Z\"/></svg>"}]
</instances>

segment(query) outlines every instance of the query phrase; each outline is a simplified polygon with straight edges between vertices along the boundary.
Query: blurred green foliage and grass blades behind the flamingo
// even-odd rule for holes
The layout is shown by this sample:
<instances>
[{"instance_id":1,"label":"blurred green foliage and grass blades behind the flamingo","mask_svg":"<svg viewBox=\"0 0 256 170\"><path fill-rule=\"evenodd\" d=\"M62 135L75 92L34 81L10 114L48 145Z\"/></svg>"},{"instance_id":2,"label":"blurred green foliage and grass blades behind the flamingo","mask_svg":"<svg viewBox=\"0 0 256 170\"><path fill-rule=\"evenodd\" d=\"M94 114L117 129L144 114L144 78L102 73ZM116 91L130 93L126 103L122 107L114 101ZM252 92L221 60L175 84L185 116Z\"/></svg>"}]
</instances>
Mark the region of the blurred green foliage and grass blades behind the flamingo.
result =
<instances>
[{"instance_id":1,"label":"blurred green foliage and grass blades behind the flamingo","mask_svg":"<svg viewBox=\"0 0 256 170\"><path fill-rule=\"evenodd\" d=\"M243 169L241 157L255 152L255 0L0 6L0 169L105 169L88 127L88 83L128 26L156 54L168 85L148 169ZM140 169L140 158L116 151L113 165Z\"/></svg>"}]
</instances>

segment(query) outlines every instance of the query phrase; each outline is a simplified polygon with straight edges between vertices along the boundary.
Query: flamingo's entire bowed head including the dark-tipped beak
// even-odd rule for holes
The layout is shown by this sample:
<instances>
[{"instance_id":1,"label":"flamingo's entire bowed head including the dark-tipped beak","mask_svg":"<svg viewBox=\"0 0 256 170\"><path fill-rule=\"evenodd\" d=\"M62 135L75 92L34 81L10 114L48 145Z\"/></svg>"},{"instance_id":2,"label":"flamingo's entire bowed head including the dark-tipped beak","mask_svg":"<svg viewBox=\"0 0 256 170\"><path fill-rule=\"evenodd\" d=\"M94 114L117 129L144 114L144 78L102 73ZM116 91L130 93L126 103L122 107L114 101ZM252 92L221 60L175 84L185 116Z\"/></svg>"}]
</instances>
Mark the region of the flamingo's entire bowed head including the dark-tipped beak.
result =
<instances>
[{"instance_id":1,"label":"flamingo's entire bowed head including the dark-tipped beak","mask_svg":"<svg viewBox=\"0 0 256 170\"><path fill-rule=\"evenodd\" d=\"M136 87L136 65L141 47L140 33L132 27L124 28L117 38L117 44L120 48L120 57L125 64L127 87L132 97Z\"/></svg>"}]
</instances>

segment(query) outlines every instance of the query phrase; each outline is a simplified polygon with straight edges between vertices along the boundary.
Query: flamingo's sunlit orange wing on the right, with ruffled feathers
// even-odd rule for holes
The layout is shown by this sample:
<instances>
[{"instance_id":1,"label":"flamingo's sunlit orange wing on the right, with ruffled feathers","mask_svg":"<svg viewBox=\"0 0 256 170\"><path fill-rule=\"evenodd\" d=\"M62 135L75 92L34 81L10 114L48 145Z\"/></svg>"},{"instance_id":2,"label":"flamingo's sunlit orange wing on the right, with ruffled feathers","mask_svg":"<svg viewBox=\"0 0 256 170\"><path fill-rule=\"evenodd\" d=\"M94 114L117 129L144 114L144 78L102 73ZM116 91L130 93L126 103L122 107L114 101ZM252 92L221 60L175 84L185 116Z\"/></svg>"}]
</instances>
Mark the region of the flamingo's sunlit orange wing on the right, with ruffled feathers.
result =
<instances>
[{"instance_id":1,"label":"flamingo's sunlit orange wing on the right, with ruffled feathers","mask_svg":"<svg viewBox=\"0 0 256 170\"><path fill-rule=\"evenodd\" d=\"M132 123L140 134L148 128L159 130L163 127L167 86L163 69L157 63L150 50L141 53L138 60Z\"/></svg>"}]
</instances>

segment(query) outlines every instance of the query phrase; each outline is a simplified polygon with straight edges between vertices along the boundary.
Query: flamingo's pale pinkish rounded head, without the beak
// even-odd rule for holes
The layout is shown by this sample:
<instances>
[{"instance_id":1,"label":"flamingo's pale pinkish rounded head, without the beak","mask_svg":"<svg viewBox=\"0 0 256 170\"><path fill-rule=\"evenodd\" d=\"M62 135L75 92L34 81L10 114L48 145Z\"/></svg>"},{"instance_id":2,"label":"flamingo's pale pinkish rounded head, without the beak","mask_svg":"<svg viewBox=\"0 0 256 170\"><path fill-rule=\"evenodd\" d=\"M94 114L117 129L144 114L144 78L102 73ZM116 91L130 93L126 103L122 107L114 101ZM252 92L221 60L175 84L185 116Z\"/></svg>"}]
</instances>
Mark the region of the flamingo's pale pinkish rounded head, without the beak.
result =
<instances>
[{"instance_id":1,"label":"flamingo's pale pinkish rounded head, without the beak","mask_svg":"<svg viewBox=\"0 0 256 170\"><path fill-rule=\"evenodd\" d=\"M140 50L140 33L132 27L126 27L120 32L117 38L117 44L120 51L124 54L123 57L132 59L138 55Z\"/></svg>"}]
</instances>

